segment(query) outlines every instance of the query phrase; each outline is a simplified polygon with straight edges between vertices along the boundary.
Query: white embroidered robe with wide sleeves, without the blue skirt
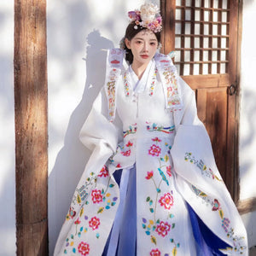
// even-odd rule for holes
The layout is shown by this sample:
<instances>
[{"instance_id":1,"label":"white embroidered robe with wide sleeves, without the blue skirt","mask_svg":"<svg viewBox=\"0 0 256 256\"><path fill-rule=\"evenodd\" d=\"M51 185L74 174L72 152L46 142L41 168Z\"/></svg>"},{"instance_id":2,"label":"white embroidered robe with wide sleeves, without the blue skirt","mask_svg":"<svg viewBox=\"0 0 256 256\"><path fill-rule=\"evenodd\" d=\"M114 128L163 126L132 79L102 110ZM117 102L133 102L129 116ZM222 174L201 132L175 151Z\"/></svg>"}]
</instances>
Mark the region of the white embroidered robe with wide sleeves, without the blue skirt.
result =
<instances>
[{"instance_id":1,"label":"white embroidered robe with wide sleeves, without the blue skirt","mask_svg":"<svg viewBox=\"0 0 256 256\"><path fill-rule=\"evenodd\" d=\"M166 61L162 55L159 60ZM73 196L55 256L102 255L119 207L120 191L112 174L134 163L137 255L195 256L186 201L230 245L225 253L247 255L246 230L221 181L205 127L197 118L195 93L183 79L171 75L174 67L160 68L164 73L152 83L155 65L161 67L152 62L146 87L137 93L136 101L124 85L123 75L129 73L125 68L118 79L106 84L107 94L103 89L97 96L81 131L81 141L93 152ZM165 73L173 87L166 87ZM166 96L167 90L174 92L173 97ZM109 101L116 108L112 122L108 121ZM170 101L177 102L177 108L166 108Z\"/></svg>"}]
</instances>

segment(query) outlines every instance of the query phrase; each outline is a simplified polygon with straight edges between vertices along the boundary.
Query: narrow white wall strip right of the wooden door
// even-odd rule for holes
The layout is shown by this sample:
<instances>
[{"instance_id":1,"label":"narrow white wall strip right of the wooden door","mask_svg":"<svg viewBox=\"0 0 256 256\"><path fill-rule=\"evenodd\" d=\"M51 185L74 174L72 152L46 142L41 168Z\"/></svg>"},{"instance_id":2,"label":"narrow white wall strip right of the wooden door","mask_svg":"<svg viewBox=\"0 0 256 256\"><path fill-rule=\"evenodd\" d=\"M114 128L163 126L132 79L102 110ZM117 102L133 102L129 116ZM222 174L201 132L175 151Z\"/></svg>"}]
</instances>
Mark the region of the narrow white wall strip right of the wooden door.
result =
<instances>
[{"instance_id":1,"label":"narrow white wall strip right of the wooden door","mask_svg":"<svg viewBox=\"0 0 256 256\"><path fill-rule=\"evenodd\" d=\"M241 41L240 187L241 200L256 197L256 1L243 1ZM249 246L256 245L256 212L242 216Z\"/></svg>"}]
</instances>

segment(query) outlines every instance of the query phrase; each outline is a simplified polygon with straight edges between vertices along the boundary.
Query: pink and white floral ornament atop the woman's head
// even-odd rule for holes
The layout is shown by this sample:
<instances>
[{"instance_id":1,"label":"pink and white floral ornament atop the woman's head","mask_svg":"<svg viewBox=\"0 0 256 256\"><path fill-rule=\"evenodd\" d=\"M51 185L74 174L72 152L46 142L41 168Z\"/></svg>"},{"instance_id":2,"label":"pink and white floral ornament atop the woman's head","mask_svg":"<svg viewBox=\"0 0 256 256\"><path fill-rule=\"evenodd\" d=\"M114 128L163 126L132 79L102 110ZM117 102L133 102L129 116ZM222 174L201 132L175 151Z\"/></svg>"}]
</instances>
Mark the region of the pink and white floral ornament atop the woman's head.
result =
<instances>
[{"instance_id":1,"label":"pink and white floral ornament atop the woman's head","mask_svg":"<svg viewBox=\"0 0 256 256\"><path fill-rule=\"evenodd\" d=\"M154 3L144 3L141 9L128 12L128 16L132 21L135 21L134 29L138 26L146 27L153 32L162 30L162 17L160 10Z\"/></svg>"}]
</instances>

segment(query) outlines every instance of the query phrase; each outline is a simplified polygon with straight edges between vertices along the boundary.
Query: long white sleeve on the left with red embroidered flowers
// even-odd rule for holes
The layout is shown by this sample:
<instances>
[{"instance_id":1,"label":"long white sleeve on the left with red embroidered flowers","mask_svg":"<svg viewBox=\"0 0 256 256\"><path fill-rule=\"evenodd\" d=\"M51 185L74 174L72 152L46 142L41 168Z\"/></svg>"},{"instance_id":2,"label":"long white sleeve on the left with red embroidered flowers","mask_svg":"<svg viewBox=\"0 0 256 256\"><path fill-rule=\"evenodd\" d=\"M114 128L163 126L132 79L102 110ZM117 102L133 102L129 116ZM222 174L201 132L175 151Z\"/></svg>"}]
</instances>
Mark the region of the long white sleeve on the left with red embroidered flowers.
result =
<instances>
[{"instance_id":1,"label":"long white sleeve on the left with red embroidered flowers","mask_svg":"<svg viewBox=\"0 0 256 256\"><path fill-rule=\"evenodd\" d=\"M81 142L92 152L62 225L55 256L100 255L108 239L119 205L119 188L108 172L108 159L116 151L120 130L116 120L108 120L107 102L103 88L80 131Z\"/></svg>"}]
</instances>

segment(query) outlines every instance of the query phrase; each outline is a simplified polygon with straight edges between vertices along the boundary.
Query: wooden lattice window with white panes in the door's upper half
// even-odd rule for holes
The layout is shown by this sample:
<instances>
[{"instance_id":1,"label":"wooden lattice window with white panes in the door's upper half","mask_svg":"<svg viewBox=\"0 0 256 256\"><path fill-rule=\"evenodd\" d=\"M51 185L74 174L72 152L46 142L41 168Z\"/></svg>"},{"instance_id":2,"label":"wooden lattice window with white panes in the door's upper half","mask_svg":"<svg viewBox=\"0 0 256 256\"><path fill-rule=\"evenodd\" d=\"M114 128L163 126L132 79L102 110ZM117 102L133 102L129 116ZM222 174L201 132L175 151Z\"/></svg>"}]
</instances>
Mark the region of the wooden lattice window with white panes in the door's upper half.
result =
<instances>
[{"instance_id":1,"label":"wooden lattice window with white panes in the door's upper half","mask_svg":"<svg viewBox=\"0 0 256 256\"><path fill-rule=\"evenodd\" d=\"M180 75L228 70L230 0L176 1L175 63Z\"/></svg>"}]
</instances>

